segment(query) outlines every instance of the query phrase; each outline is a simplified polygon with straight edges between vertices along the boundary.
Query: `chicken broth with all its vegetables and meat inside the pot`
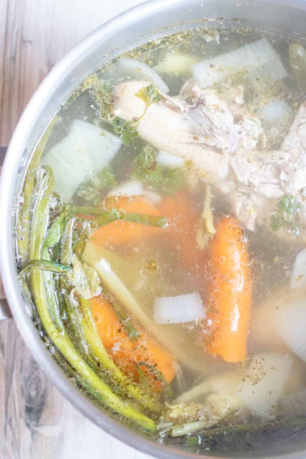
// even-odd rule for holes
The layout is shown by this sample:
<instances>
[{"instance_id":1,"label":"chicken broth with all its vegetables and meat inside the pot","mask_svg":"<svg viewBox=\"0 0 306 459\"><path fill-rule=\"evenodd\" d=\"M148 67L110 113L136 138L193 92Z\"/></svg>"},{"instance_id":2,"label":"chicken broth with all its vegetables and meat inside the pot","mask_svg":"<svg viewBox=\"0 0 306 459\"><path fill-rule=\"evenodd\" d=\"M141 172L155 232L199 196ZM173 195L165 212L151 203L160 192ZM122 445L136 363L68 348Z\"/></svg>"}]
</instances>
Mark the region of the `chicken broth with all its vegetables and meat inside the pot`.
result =
<instances>
[{"instance_id":1,"label":"chicken broth with all its vegetables and meat inside the pot","mask_svg":"<svg viewBox=\"0 0 306 459\"><path fill-rule=\"evenodd\" d=\"M276 34L171 34L86 78L33 153L16 241L35 325L160 442L305 431L305 75Z\"/></svg>"}]
</instances>

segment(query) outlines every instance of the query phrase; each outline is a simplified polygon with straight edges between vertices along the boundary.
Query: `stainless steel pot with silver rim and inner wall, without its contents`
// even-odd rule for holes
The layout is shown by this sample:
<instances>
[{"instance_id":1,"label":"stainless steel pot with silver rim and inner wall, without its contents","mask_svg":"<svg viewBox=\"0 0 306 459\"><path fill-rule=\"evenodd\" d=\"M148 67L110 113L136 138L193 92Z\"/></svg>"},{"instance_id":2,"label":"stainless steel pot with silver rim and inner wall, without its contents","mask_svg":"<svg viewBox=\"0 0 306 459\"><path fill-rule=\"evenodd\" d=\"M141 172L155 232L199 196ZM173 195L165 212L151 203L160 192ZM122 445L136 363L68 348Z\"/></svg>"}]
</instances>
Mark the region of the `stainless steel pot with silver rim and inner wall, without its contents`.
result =
<instances>
[{"instance_id":1,"label":"stainless steel pot with silver rim and inner wall, without its contents","mask_svg":"<svg viewBox=\"0 0 306 459\"><path fill-rule=\"evenodd\" d=\"M237 3L239 1L239 3ZM17 279L14 224L17 194L29 157L39 135L72 89L96 67L152 36L174 30L200 26L223 18L224 24L246 25L262 30L282 32L295 39L303 36L306 25L306 0L152 0L107 22L72 50L50 72L33 95L11 139L0 185L0 268L6 296L16 325L34 358L58 387L85 416L114 437L144 453L158 458L192 458L200 454L222 457L306 457L306 437L277 443L260 453L207 452L184 446L160 444L154 438L133 431L117 419L98 409L53 360L33 326L28 304L22 297ZM245 18L245 19L243 19ZM214 22L212 22L213 24ZM169 25L170 24L170 25ZM174 24L174 25L173 25ZM1 307L0 307L1 309ZM7 317L3 313L3 317ZM1 319L1 311L0 311ZM264 442L264 437L262 439Z\"/></svg>"}]
</instances>

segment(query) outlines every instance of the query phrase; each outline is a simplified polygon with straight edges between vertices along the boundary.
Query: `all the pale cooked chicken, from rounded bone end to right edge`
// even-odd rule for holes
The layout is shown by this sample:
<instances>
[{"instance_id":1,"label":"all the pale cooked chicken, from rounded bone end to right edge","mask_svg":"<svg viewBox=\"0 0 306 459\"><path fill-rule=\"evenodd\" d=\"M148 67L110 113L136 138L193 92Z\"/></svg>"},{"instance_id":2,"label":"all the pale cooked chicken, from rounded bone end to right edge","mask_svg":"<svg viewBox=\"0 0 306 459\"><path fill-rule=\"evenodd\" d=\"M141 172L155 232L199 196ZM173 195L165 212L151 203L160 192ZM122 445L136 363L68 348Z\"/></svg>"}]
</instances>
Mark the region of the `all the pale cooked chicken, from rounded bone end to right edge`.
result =
<instances>
[{"instance_id":1,"label":"all the pale cooked chicken, from rounded bone end to right edge","mask_svg":"<svg viewBox=\"0 0 306 459\"><path fill-rule=\"evenodd\" d=\"M265 151L259 118L243 106L243 88L222 96L188 80L177 97L145 106L136 93L149 83L128 81L115 89L115 115L140 118L139 136L192 162L200 177L229 196L234 214L254 230L269 222L278 200L296 195L306 222L306 105L300 107L280 151Z\"/></svg>"}]
</instances>

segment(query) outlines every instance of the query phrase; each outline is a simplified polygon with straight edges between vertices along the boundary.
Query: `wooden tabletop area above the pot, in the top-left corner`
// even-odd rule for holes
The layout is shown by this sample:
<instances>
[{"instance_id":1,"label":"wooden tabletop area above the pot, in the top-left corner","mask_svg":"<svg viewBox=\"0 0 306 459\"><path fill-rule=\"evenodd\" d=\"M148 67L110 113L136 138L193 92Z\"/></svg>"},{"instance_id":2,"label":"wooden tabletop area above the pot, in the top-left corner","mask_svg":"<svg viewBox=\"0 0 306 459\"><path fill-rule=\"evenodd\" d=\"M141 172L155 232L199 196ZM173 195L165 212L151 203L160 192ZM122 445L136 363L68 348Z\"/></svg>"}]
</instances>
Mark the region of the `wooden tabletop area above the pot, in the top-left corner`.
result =
<instances>
[{"instance_id":1,"label":"wooden tabletop area above the pot, in the top-left corner","mask_svg":"<svg viewBox=\"0 0 306 459\"><path fill-rule=\"evenodd\" d=\"M31 95L84 36L140 0L0 0L0 145Z\"/></svg>"}]
</instances>

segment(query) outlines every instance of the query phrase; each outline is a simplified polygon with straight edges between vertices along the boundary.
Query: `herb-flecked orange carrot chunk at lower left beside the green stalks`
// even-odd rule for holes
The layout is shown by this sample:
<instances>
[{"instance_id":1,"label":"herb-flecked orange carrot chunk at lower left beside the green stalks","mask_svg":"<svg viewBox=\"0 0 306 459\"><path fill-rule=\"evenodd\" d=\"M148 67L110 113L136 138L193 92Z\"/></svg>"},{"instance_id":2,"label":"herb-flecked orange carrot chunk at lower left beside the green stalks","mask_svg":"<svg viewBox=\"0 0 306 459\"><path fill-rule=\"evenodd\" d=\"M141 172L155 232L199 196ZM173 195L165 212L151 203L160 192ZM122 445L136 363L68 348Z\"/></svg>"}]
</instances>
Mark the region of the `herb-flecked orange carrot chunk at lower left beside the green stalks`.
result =
<instances>
[{"instance_id":1,"label":"herb-flecked orange carrot chunk at lower left beside the green stalks","mask_svg":"<svg viewBox=\"0 0 306 459\"><path fill-rule=\"evenodd\" d=\"M106 350L115 364L126 375L133 381L138 382L137 364L145 362L155 366L168 383L172 381L175 374L175 360L167 351L143 331L139 331L139 338L136 341L132 341L124 331L111 303L106 299L93 297L90 300L90 305L95 324ZM145 374L148 374L147 367L143 366L142 370ZM157 391L161 390L159 382L156 383L154 381L154 387Z\"/></svg>"}]
</instances>

